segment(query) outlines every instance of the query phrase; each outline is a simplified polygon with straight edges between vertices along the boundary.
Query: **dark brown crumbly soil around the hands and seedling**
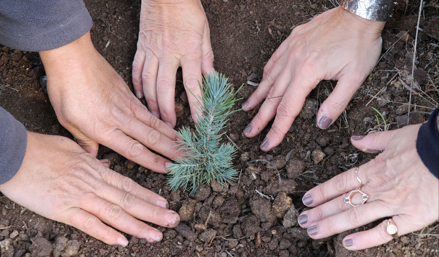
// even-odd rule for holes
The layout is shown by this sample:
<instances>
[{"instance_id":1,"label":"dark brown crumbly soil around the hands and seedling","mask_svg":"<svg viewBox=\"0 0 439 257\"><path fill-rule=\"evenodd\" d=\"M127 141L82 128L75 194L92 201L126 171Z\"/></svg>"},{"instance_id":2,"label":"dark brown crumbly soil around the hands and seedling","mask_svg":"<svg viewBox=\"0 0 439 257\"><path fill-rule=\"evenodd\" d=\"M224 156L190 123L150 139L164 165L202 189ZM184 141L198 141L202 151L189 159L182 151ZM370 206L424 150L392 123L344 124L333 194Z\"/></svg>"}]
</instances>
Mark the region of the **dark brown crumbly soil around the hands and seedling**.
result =
<instances>
[{"instance_id":1,"label":"dark brown crumbly soil around the hands and seedling","mask_svg":"<svg viewBox=\"0 0 439 257\"><path fill-rule=\"evenodd\" d=\"M416 5L411 13L410 2ZM383 126L377 126L377 113L372 106L385 115L390 129L403 123L409 98L404 87L404 69L411 69L419 5L417 1L407 3L398 5L396 15L382 33L382 51L384 54L388 50L388 53L355 94L346 113L328 130L316 127L315 112L335 86L333 81L320 83L310 93L305 108L282 143L268 153L260 151L259 144L270 125L260 136L246 138L241 132L254 113L233 114L226 132L245 153L234 161L235 168L242 169L240 179L230 183L228 188L212 183L193 196L182 191L169 192L166 175L151 172L101 147L98 158L110 159L112 169L159 193L168 199L170 209L180 213L182 221L177 228L159 227L164 234L162 242L152 245L126 235L130 240L126 248L109 246L75 228L23 209L3 196L0 198L1 256L362 256L344 249L337 242L348 233L369 229L379 221L341 235L311 240L296 220L305 209L301 199L307 190L374 158L350 144L352 134L383 129ZM94 22L91 37L96 49L132 88L131 64L136 50L140 1L88 0L85 4ZM246 83L248 76L259 82L265 63L291 28L323 12L326 7L333 7L326 0L295 3L205 0L203 6L210 24L215 68L229 76L235 87ZM439 101L434 89L439 84L437 20L437 4L426 7L420 25L424 31L419 33L421 41L415 75L422 90L436 102ZM402 71L378 94L378 99L365 106L397 74L394 67ZM0 106L25 124L29 131L72 138L57 121L48 96L40 86L42 75L44 68L37 53L1 48ZM177 127L192 126L181 70L177 74L176 90ZM245 85L239 97L246 99L254 90L255 87ZM412 95L412 104L417 105L416 111L419 111L410 115L412 123L428 118L424 112L434 108L431 101L419 94ZM242 102L239 101L235 108ZM279 174L265 162L246 166L247 162L256 159L269 160ZM270 195L270 199L263 198L255 190ZM196 225L204 224L209 214L207 229L197 229ZM422 232L361 252L370 256L439 256L437 234L436 222Z\"/></svg>"}]
</instances>

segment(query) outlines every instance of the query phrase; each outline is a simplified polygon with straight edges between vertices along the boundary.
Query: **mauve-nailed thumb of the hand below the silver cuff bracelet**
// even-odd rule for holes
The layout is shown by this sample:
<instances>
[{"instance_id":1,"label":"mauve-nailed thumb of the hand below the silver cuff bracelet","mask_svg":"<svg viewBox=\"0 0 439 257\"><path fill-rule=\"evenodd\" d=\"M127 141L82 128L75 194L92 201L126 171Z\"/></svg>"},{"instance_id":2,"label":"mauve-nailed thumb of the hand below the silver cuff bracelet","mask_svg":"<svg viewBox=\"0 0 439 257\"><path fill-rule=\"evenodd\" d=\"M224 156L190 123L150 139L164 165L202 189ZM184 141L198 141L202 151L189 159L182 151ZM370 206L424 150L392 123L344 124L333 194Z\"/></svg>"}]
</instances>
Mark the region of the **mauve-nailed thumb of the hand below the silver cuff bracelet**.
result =
<instances>
[{"instance_id":1,"label":"mauve-nailed thumb of the hand below the silver cuff bracelet","mask_svg":"<svg viewBox=\"0 0 439 257\"><path fill-rule=\"evenodd\" d=\"M343 113L364 79L363 77L358 78L356 72L347 72L340 77L334 90L317 113L317 125L321 129L327 129Z\"/></svg>"}]
</instances>

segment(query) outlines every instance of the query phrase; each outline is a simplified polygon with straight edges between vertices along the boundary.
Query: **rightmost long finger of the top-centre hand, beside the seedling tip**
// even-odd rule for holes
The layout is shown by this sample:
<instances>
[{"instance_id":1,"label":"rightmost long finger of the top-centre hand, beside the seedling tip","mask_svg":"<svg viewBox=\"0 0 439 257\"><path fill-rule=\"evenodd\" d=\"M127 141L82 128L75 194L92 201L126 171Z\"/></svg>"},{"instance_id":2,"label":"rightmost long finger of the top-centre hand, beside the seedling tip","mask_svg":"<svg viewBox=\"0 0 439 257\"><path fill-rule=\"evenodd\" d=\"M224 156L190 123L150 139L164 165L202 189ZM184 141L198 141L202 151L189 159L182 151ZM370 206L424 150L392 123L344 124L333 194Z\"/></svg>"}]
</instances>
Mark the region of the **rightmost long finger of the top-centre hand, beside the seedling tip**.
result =
<instances>
[{"instance_id":1,"label":"rightmost long finger of the top-centre hand, beside the seedling tip","mask_svg":"<svg viewBox=\"0 0 439 257\"><path fill-rule=\"evenodd\" d=\"M197 56L184 56L181 60L181 67L183 70L183 84L189 101L190 114L192 115L193 121L197 122L198 115L202 115L202 111L196 105L202 96L200 87L202 83L200 58Z\"/></svg>"}]
</instances>

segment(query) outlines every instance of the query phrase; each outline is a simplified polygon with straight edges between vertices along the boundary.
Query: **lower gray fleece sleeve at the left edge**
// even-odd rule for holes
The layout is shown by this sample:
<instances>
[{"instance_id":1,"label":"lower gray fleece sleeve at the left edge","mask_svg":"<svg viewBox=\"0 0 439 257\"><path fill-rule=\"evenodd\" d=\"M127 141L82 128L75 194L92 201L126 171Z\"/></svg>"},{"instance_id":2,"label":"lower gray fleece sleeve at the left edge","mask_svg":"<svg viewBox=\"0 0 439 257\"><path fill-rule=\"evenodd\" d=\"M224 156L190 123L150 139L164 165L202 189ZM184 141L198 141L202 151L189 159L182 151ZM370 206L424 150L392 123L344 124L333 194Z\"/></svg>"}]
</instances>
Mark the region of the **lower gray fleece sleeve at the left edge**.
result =
<instances>
[{"instance_id":1,"label":"lower gray fleece sleeve at the left edge","mask_svg":"<svg viewBox=\"0 0 439 257\"><path fill-rule=\"evenodd\" d=\"M8 182L20 168L27 139L25 126L0 107L0 184Z\"/></svg>"}]
</instances>

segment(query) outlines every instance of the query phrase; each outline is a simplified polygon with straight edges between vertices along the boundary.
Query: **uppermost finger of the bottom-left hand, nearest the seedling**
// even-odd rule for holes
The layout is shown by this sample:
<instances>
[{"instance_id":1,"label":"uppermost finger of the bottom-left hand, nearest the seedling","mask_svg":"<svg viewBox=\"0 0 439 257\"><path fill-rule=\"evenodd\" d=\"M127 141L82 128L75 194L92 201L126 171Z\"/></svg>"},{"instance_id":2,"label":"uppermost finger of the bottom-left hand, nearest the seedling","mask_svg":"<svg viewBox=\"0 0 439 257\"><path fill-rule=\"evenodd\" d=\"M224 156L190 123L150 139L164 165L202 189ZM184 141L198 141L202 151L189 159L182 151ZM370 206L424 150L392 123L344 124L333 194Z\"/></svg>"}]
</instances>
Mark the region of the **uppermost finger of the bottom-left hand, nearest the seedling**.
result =
<instances>
[{"instance_id":1,"label":"uppermost finger of the bottom-left hand, nearest the seedling","mask_svg":"<svg viewBox=\"0 0 439 257\"><path fill-rule=\"evenodd\" d=\"M165 198L140 186L129 177L112 170L106 170L102 172L101 175L109 185L115 188L130 193L139 199L157 205L158 207L168 208L168 202Z\"/></svg>"}]
</instances>

